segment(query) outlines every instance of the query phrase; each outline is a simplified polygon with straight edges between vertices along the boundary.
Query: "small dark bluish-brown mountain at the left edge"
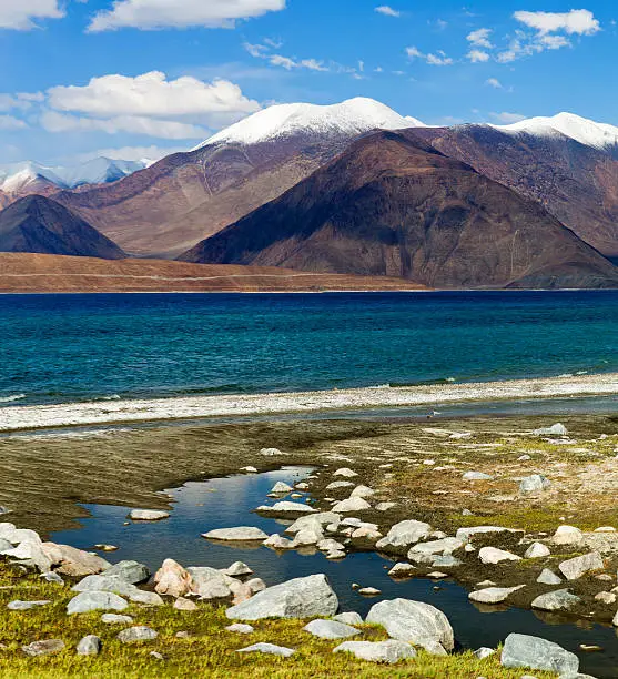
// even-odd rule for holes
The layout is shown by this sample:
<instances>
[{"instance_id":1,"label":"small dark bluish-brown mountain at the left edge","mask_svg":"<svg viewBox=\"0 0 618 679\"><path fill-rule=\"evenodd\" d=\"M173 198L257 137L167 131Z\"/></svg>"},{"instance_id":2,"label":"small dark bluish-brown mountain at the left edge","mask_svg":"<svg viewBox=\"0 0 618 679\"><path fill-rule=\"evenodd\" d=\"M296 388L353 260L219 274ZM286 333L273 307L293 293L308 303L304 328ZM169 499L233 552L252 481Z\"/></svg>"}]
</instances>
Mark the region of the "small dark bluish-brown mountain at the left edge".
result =
<instances>
[{"instance_id":1,"label":"small dark bluish-brown mountain at the left edge","mask_svg":"<svg viewBox=\"0 0 618 679\"><path fill-rule=\"evenodd\" d=\"M0 212L0 252L118 260L124 253L88 222L51 199L23 197Z\"/></svg>"}]
</instances>

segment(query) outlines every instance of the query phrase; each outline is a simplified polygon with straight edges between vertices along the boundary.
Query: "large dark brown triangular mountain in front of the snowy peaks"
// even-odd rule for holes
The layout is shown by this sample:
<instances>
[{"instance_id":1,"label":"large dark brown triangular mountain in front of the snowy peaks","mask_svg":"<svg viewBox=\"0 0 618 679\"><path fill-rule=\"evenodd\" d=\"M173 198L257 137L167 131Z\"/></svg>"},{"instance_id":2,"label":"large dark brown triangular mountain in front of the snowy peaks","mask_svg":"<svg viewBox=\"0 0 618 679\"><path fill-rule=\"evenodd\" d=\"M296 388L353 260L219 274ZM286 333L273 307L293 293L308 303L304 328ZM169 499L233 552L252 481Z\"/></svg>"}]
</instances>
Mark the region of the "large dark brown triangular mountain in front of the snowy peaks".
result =
<instances>
[{"instance_id":1,"label":"large dark brown triangular mountain in front of the snowy peaks","mask_svg":"<svg viewBox=\"0 0 618 679\"><path fill-rule=\"evenodd\" d=\"M438 287L618 286L618 270L537 203L412 132L355 142L182 259Z\"/></svg>"}]
</instances>

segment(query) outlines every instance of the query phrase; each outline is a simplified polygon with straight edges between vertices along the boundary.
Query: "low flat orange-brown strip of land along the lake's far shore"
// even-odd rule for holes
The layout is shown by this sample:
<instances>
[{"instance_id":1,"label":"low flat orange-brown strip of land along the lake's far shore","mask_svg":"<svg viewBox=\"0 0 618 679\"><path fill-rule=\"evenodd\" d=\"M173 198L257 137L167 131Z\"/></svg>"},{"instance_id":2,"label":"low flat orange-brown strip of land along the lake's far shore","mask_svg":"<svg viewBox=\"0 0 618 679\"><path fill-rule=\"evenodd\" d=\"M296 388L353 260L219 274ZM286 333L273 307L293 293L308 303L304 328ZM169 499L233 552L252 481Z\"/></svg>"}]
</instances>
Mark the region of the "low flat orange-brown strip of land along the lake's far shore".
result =
<instances>
[{"instance_id":1,"label":"low flat orange-brown strip of land along the lake's far shore","mask_svg":"<svg viewBox=\"0 0 618 679\"><path fill-rule=\"evenodd\" d=\"M97 260L0 253L2 293L324 292L424 290L401 278L302 273L163 260Z\"/></svg>"}]
</instances>

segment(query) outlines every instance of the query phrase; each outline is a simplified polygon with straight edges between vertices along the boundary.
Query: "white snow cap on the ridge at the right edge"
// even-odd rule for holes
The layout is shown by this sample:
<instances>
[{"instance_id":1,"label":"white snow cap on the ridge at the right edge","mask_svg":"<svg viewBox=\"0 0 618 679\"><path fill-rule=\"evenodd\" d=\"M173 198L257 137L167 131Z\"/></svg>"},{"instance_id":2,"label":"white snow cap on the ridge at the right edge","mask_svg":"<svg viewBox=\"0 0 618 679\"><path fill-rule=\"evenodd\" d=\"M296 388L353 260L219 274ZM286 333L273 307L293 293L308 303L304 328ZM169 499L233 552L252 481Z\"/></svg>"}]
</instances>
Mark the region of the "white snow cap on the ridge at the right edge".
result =
<instances>
[{"instance_id":1,"label":"white snow cap on the ridge at the right edge","mask_svg":"<svg viewBox=\"0 0 618 679\"><path fill-rule=\"evenodd\" d=\"M569 136L586 146L607 150L618 145L618 128L597 123L574 113L558 113L553 118L530 118L511 125L493 125L509 133L527 133L535 136L549 136L556 133Z\"/></svg>"}]
</instances>

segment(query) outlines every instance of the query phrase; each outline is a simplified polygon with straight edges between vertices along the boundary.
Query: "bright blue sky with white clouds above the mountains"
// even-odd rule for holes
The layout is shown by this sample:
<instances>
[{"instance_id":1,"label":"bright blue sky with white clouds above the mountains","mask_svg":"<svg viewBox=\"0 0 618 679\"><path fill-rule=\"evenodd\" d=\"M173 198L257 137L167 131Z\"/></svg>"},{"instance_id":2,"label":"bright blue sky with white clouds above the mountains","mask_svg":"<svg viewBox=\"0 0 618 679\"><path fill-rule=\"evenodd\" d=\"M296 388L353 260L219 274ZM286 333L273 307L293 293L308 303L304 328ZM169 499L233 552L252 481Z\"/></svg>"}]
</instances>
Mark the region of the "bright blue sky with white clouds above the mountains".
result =
<instances>
[{"instance_id":1,"label":"bright blue sky with white clouds above the mountains","mask_svg":"<svg viewBox=\"0 0 618 679\"><path fill-rule=\"evenodd\" d=\"M0 165L156 160L273 103L618 125L611 0L0 0Z\"/></svg>"}]
</instances>

